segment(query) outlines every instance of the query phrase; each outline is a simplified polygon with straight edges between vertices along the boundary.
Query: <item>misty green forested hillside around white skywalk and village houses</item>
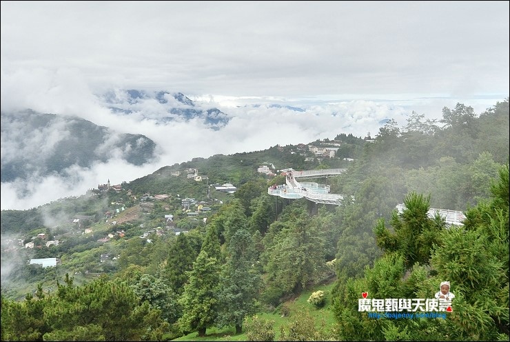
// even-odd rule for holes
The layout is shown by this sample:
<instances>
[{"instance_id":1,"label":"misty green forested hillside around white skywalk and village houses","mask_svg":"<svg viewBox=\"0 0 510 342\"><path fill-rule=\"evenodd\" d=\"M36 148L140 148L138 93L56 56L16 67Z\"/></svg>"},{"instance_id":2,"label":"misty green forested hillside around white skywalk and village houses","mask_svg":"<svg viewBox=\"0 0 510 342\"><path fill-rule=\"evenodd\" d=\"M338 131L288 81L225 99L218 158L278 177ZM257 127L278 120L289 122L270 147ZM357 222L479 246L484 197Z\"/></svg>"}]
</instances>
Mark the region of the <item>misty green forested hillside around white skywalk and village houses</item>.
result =
<instances>
[{"instance_id":1,"label":"misty green forested hillside around white skywalk and village houses","mask_svg":"<svg viewBox=\"0 0 510 342\"><path fill-rule=\"evenodd\" d=\"M339 145L332 158L277 145L165 166L118 191L2 210L1 340L168 341L230 327L271 341L271 323L257 314L285 315L282 303L333 281L334 326L307 317L281 341L508 341L509 116L509 99L480 114L458 103L438 121L416 112L403 127L389 121L373 141L307 143ZM312 180L345 201L272 197L267 188L285 176L257 172L263 163L345 168ZM212 186L223 183L236 192ZM449 225L430 208L466 219ZM56 267L28 265L53 257ZM455 298L440 319L360 310L362 293L372 305L433 299L442 281ZM314 294L311 308L322 303Z\"/></svg>"}]
</instances>

